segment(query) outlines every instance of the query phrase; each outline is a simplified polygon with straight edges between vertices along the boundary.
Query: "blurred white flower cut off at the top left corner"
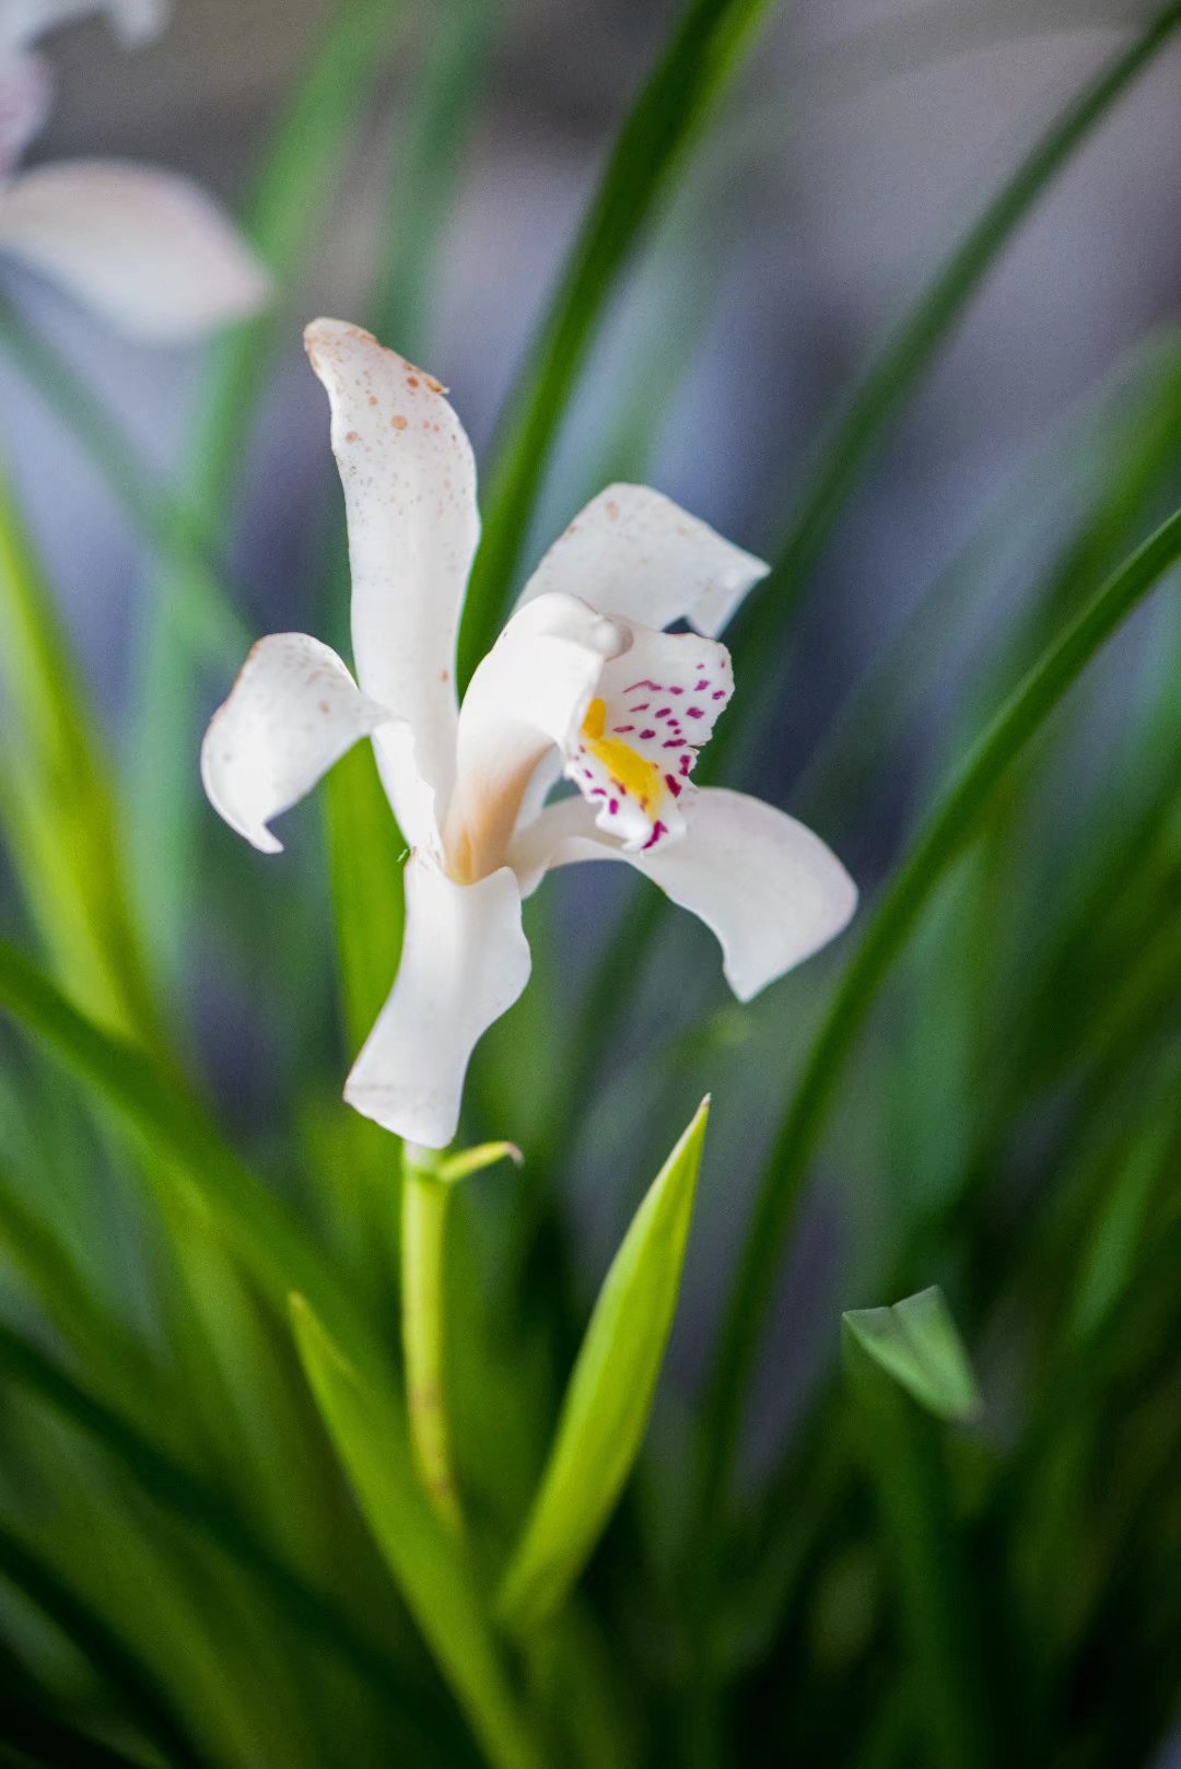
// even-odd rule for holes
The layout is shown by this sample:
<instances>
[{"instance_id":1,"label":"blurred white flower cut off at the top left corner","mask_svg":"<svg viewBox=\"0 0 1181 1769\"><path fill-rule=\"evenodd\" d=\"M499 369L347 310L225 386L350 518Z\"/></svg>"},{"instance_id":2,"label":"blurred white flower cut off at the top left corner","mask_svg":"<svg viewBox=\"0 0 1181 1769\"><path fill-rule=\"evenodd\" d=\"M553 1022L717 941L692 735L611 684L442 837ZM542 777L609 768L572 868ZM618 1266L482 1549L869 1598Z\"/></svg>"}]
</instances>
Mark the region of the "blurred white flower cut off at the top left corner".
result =
<instances>
[{"instance_id":1,"label":"blurred white flower cut off at the top left corner","mask_svg":"<svg viewBox=\"0 0 1181 1769\"><path fill-rule=\"evenodd\" d=\"M255 313L269 295L267 274L189 179L115 159L16 173L53 97L50 67L28 44L89 12L108 12L131 44L152 35L166 9L159 0L0 0L0 253L145 343L202 336Z\"/></svg>"}]
</instances>

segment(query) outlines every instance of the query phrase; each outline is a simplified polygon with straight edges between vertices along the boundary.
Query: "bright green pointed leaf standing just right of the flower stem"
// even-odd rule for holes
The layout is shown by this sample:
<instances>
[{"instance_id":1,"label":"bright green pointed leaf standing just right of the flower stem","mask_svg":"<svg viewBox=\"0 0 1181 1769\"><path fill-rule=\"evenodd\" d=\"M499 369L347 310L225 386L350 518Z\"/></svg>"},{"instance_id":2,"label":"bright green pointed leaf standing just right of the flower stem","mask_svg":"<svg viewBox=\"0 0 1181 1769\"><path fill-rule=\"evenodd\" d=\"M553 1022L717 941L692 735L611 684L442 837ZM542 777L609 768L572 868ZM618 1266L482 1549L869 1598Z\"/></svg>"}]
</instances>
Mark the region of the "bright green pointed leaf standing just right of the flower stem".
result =
<instances>
[{"instance_id":1,"label":"bright green pointed leaf standing just right of the flower stem","mask_svg":"<svg viewBox=\"0 0 1181 1769\"><path fill-rule=\"evenodd\" d=\"M598 1291L499 1613L515 1629L558 1608L632 1472L673 1327L708 1099L653 1180Z\"/></svg>"}]
</instances>

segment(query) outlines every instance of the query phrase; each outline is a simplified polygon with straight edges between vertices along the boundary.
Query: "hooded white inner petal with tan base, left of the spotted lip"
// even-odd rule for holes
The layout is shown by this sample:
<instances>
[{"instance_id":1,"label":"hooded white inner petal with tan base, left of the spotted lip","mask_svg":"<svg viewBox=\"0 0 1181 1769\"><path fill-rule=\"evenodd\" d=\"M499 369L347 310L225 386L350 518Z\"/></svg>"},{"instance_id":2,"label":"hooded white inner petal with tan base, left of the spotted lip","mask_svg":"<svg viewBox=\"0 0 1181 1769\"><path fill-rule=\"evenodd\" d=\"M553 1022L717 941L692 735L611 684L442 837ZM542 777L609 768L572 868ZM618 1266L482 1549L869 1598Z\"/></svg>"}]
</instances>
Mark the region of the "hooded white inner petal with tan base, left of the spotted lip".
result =
<instances>
[{"instance_id":1,"label":"hooded white inner petal with tan base, left of the spotted lip","mask_svg":"<svg viewBox=\"0 0 1181 1769\"><path fill-rule=\"evenodd\" d=\"M574 596L521 609L476 669L459 715L444 847L459 879L505 863L526 791L554 745L570 754L607 658L629 644Z\"/></svg>"}]
</instances>

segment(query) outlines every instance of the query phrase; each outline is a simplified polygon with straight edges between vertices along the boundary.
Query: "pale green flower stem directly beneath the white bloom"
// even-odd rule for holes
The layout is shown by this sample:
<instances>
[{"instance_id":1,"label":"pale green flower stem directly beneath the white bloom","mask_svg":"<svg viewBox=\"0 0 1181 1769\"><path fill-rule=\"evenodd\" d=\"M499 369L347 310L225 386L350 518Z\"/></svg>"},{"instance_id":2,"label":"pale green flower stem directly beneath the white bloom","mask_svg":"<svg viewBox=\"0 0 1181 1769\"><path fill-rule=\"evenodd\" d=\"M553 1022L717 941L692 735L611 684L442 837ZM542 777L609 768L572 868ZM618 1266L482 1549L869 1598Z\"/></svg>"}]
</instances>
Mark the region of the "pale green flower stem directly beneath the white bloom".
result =
<instances>
[{"instance_id":1,"label":"pale green flower stem directly beneath the white bloom","mask_svg":"<svg viewBox=\"0 0 1181 1769\"><path fill-rule=\"evenodd\" d=\"M439 1521L462 1534L443 1383L443 1252L452 1187L427 1150L402 1155L402 1350L414 1465Z\"/></svg>"}]
</instances>

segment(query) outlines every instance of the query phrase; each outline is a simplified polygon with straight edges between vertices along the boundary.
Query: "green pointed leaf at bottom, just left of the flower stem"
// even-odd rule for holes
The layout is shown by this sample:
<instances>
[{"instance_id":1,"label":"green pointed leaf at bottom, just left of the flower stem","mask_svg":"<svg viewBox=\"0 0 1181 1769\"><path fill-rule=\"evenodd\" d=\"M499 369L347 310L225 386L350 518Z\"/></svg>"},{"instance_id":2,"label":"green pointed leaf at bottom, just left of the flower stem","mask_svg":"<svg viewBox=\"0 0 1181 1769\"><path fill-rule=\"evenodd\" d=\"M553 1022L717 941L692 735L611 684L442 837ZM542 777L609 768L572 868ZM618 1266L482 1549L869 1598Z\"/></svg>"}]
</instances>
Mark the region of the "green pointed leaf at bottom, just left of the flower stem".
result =
<instances>
[{"instance_id":1,"label":"green pointed leaf at bottom, just left of the flower stem","mask_svg":"<svg viewBox=\"0 0 1181 1769\"><path fill-rule=\"evenodd\" d=\"M402 1413L290 1298L308 1383L374 1541L496 1769L540 1769L460 1551L418 1484Z\"/></svg>"}]
</instances>

